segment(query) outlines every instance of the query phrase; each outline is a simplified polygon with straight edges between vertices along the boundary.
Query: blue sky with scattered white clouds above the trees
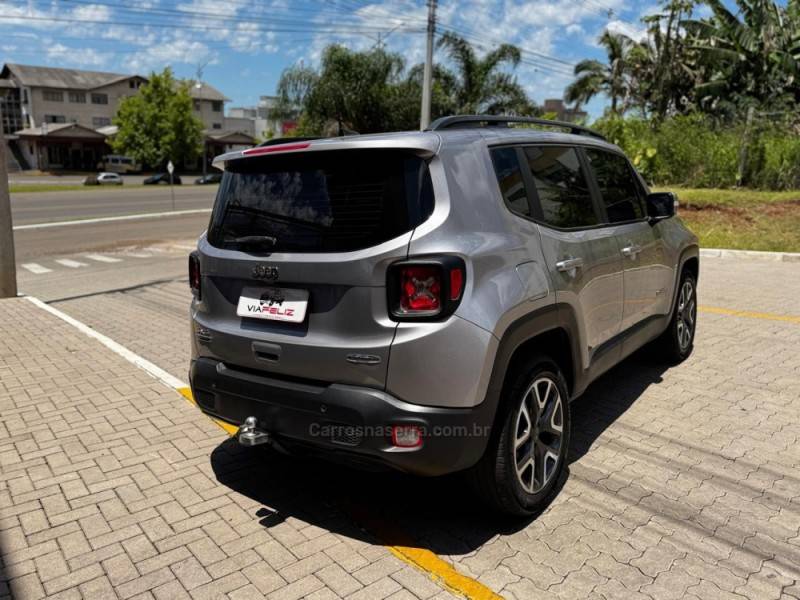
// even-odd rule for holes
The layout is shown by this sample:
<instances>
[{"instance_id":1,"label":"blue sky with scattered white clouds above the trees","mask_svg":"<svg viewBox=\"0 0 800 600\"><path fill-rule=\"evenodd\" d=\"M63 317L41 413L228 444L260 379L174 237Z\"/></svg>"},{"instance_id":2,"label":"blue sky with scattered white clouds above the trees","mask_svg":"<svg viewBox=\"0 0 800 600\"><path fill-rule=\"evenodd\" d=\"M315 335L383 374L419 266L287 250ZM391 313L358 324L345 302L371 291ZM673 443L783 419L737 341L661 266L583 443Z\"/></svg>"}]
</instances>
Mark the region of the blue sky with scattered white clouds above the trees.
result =
<instances>
[{"instance_id":1,"label":"blue sky with scattered white clouds above the trees","mask_svg":"<svg viewBox=\"0 0 800 600\"><path fill-rule=\"evenodd\" d=\"M443 0L438 18L480 51L519 45L516 74L541 102L561 97L575 62L603 58L604 29L641 35L640 18L656 9L655 0ZM229 107L253 105L286 66L316 64L332 42L382 40L409 66L421 62L426 14L425 0L0 0L0 62L142 75L169 65L181 77L202 68Z\"/></svg>"}]
</instances>

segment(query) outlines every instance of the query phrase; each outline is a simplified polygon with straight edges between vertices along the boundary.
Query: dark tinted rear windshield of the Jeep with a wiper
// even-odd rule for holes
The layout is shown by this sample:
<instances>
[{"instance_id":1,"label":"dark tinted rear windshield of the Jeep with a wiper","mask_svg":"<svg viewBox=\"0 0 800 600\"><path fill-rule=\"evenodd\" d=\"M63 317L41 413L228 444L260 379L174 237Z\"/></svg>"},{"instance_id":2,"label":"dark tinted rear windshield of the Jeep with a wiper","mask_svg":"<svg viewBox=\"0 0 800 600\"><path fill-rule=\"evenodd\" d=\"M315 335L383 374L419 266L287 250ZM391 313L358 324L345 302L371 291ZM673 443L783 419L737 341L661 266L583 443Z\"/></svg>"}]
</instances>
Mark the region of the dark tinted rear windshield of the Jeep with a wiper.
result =
<instances>
[{"instance_id":1,"label":"dark tinted rear windshield of the Jeep with a wiper","mask_svg":"<svg viewBox=\"0 0 800 600\"><path fill-rule=\"evenodd\" d=\"M348 252L427 219L427 163L398 150L319 151L228 164L208 241L268 252ZM256 238L274 238L258 244Z\"/></svg>"}]
</instances>

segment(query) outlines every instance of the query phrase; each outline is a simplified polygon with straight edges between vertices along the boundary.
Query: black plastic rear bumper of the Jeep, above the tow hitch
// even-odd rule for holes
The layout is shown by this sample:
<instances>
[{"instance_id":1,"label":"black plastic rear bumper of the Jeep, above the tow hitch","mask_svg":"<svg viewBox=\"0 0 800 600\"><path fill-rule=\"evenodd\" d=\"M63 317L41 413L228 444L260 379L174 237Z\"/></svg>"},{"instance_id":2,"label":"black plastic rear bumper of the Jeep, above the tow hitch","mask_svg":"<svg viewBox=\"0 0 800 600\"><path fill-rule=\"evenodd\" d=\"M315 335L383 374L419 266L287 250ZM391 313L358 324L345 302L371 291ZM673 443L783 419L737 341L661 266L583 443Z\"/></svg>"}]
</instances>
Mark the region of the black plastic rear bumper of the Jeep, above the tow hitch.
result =
<instances>
[{"instance_id":1,"label":"black plastic rear bumper of the Jeep, above the tow hitch","mask_svg":"<svg viewBox=\"0 0 800 600\"><path fill-rule=\"evenodd\" d=\"M416 475L444 475L473 466L491 435L494 406L436 408L398 400L382 390L273 378L220 361L192 361L190 381L200 409L259 428L282 446L355 465L382 465ZM391 426L418 425L423 444L396 448Z\"/></svg>"}]
</instances>

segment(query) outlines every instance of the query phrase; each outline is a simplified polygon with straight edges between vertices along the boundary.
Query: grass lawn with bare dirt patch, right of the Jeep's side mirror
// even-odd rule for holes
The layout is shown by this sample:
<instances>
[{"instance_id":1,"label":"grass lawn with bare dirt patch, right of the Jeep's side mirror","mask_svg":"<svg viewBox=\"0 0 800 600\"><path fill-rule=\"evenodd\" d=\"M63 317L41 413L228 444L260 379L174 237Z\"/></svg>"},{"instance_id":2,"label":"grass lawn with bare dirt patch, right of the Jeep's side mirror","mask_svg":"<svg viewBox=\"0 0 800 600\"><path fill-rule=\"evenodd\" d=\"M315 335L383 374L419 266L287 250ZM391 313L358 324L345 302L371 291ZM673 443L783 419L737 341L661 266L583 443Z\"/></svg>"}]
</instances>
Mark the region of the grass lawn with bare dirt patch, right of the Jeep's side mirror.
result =
<instances>
[{"instance_id":1,"label":"grass lawn with bare dirt patch, right of the Jeep's side mirror","mask_svg":"<svg viewBox=\"0 0 800 600\"><path fill-rule=\"evenodd\" d=\"M800 190L659 189L678 194L701 248L800 252Z\"/></svg>"}]
</instances>

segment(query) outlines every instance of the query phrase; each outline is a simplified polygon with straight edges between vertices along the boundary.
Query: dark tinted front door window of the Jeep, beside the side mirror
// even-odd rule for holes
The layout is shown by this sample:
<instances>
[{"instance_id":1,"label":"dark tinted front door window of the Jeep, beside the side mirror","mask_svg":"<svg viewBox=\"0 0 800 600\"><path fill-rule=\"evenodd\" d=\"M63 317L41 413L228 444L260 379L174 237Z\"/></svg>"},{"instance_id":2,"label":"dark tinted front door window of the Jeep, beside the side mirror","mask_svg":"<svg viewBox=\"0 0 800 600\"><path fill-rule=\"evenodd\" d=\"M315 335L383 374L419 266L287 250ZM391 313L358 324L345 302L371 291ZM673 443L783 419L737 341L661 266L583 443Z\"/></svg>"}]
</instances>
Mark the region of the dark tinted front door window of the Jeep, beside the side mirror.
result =
<instances>
[{"instance_id":1,"label":"dark tinted front door window of the Jeep, beside the side mirror","mask_svg":"<svg viewBox=\"0 0 800 600\"><path fill-rule=\"evenodd\" d=\"M639 186L628 161L619 154L587 149L600 196L610 223L634 221L644 216Z\"/></svg>"}]
</instances>

